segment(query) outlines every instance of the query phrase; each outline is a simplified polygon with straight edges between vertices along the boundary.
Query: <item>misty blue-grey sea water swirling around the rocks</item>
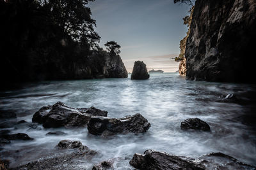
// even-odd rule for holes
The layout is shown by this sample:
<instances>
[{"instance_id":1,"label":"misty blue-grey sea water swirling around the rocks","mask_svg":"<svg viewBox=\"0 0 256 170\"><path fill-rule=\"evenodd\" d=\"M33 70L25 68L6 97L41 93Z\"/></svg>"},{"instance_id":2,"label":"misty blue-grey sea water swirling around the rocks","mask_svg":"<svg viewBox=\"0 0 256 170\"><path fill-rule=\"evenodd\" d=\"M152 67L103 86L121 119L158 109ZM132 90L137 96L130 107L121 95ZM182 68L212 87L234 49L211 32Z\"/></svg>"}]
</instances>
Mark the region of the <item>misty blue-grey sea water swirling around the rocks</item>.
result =
<instances>
[{"instance_id":1,"label":"misty blue-grey sea water swirling around the rocks","mask_svg":"<svg viewBox=\"0 0 256 170\"><path fill-rule=\"evenodd\" d=\"M9 159L11 167L26 164L52 154L62 139L79 140L99 152L81 163L90 169L103 160L116 159L117 169L129 169L134 153L153 149L173 155L199 157L223 152L245 163L256 165L255 85L186 81L177 73L151 74L149 80L101 79L45 81L0 93L0 109L15 110L17 121L31 122L42 106L58 101L74 108L95 106L108 111L108 117L120 118L141 113L151 127L145 134L120 134L100 138L86 128L28 130L10 127L12 133L24 132L34 141L12 141L1 146L0 159ZM236 94L239 102L220 96ZM200 118L211 132L184 132L180 122ZM3 130L3 129L1 129ZM49 131L63 131L67 136L46 136Z\"/></svg>"}]
</instances>

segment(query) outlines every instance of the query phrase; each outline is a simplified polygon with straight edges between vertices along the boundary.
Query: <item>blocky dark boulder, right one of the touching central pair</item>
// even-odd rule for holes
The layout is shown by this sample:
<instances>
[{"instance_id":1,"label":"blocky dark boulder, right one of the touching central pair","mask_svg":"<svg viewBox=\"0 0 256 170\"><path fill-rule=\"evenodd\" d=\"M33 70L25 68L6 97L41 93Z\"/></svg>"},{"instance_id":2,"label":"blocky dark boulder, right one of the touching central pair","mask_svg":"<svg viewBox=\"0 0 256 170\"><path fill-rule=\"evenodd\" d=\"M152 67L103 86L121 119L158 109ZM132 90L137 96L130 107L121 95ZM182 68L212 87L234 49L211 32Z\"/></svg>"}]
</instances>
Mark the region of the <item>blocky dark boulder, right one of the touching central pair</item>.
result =
<instances>
[{"instance_id":1,"label":"blocky dark boulder, right one of the touching central pair","mask_svg":"<svg viewBox=\"0 0 256 170\"><path fill-rule=\"evenodd\" d=\"M139 113L124 118L92 117L88 124L88 132L95 135L109 136L120 133L146 132L150 124Z\"/></svg>"}]
</instances>

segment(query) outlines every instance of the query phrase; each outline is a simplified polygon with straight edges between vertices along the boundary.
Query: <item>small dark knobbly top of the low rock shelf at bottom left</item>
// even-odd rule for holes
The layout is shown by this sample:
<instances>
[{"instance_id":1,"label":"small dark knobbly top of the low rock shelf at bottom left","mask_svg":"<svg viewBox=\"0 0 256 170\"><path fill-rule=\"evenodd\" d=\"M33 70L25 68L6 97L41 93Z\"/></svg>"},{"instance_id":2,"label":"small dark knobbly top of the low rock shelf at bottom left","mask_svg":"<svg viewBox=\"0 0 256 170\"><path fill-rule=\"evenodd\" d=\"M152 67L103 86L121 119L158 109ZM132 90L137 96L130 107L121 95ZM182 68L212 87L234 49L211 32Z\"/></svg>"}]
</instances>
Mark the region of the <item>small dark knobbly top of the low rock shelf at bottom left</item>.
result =
<instances>
[{"instance_id":1,"label":"small dark knobbly top of the low rock shelf at bottom left","mask_svg":"<svg viewBox=\"0 0 256 170\"><path fill-rule=\"evenodd\" d=\"M62 140L58 143L57 147L61 149L88 150L88 147L83 146L81 141Z\"/></svg>"}]
</instances>

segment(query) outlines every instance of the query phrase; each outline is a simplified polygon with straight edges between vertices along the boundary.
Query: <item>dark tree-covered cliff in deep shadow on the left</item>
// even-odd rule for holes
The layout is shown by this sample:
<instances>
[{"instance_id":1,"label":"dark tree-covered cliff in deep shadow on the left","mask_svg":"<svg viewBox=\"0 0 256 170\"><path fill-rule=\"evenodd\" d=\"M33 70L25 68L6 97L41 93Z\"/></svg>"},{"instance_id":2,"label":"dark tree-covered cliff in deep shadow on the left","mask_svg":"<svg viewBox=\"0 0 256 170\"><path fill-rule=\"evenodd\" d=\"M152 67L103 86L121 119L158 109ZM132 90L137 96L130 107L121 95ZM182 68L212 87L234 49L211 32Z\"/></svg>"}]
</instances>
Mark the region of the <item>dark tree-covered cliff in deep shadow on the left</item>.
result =
<instances>
[{"instance_id":1,"label":"dark tree-covered cliff in deep shadow on the left","mask_svg":"<svg viewBox=\"0 0 256 170\"><path fill-rule=\"evenodd\" d=\"M87 4L88 0L1 0L1 87L112 74L127 77L120 56L99 47ZM109 64L119 65L106 73Z\"/></svg>"}]
</instances>

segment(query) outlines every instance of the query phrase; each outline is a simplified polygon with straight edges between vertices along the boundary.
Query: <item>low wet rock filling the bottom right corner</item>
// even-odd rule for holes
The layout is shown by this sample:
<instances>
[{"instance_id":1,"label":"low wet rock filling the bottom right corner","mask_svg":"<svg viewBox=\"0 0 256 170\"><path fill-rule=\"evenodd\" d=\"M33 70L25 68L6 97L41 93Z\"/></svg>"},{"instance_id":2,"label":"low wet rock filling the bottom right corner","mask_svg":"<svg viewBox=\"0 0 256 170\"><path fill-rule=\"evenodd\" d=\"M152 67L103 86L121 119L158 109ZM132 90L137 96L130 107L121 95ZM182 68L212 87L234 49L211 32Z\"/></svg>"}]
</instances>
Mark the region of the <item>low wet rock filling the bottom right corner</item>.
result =
<instances>
[{"instance_id":1,"label":"low wet rock filling the bottom right corner","mask_svg":"<svg viewBox=\"0 0 256 170\"><path fill-rule=\"evenodd\" d=\"M202 155L198 159L207 166L207 169L256 169L255 166L244 164L221 152Z\"/></svg>"}]
</instances>

